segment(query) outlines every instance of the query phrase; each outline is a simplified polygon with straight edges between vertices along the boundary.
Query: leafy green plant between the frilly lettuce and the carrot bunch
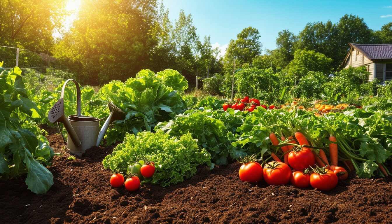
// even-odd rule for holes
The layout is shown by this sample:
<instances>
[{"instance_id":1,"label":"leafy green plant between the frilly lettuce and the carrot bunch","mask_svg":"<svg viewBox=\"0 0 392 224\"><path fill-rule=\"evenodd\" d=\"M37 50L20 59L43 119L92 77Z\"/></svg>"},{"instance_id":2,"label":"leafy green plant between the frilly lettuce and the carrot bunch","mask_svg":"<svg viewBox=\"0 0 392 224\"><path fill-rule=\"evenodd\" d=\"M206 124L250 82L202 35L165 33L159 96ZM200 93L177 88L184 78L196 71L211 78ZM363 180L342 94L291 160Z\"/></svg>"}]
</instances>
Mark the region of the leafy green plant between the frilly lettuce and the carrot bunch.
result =
<instances>
[{"instance_id":1,"label":"leafy green plant between the frilly lettuce and the carrot bunch","mask_svg":"<svg viewBox=\"0 0 392 224\"><path fill-rule=\"evenodd\" d=\"M206 109L189 110L169 122L158 123L154 130L163 130L171 136L179 137L191 133L201 148L211 154L212 162L227 164L246 153L231 145L236 128L242 124L244 113L229 108L227 111Z\"/></svg>"}]
</instances>

